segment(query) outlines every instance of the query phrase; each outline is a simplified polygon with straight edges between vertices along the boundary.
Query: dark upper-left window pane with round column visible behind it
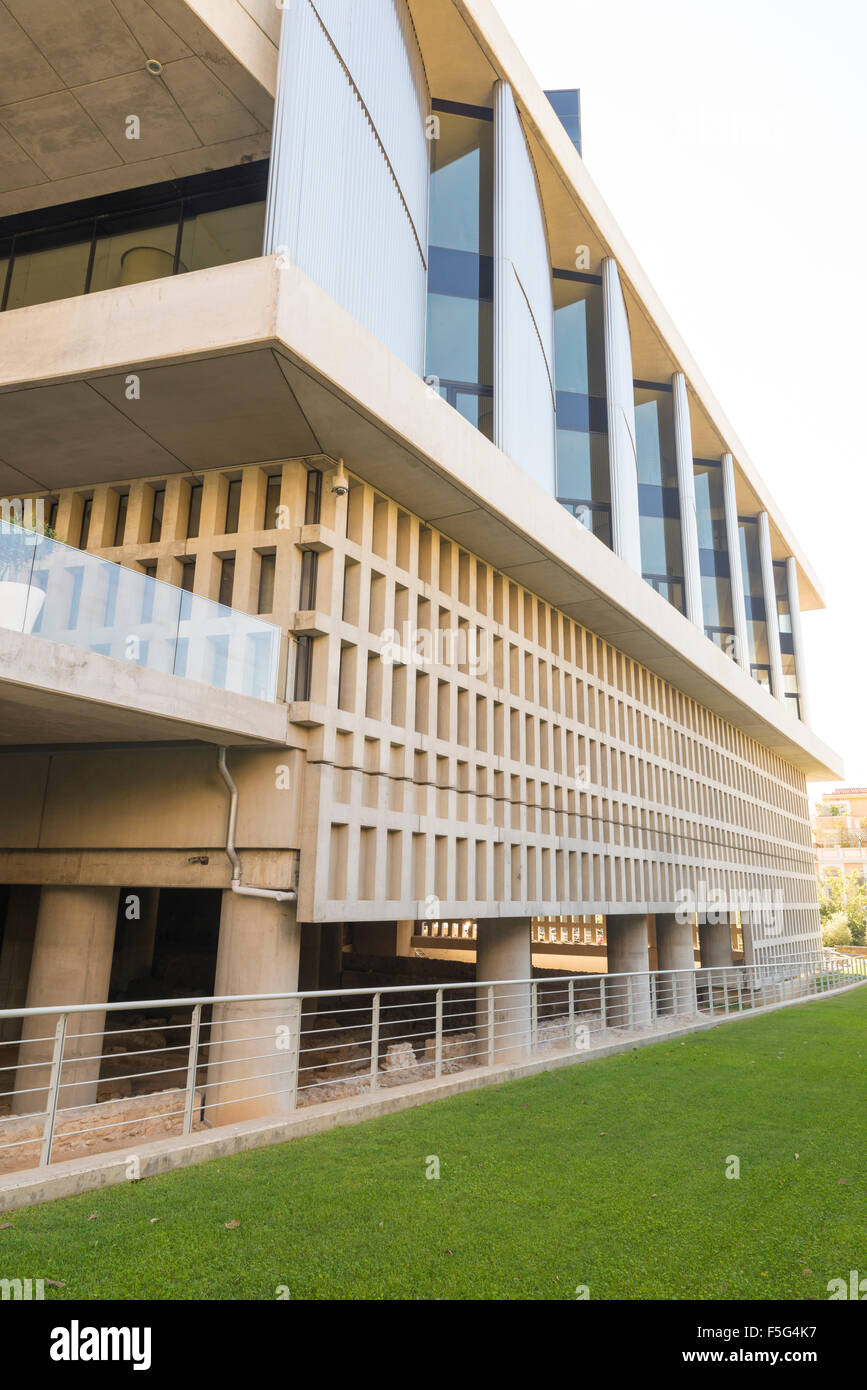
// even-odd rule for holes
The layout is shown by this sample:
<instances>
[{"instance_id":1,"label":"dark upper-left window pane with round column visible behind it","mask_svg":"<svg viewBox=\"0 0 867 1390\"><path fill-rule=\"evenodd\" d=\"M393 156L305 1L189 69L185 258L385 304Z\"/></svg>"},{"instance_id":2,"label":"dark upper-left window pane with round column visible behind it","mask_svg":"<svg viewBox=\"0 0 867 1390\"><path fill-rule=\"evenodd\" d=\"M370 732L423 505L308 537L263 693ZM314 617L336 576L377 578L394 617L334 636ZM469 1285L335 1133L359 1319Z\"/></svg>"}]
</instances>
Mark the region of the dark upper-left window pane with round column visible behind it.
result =
<instances>
[{"instance_id":1,"label":"dark upper-left window pane with round column visible behind it","mask_svg":"<svg viewBox=\"0 0 867 1390\"><path fill-rule=\"evenodd\" d=\"M174 275L179 217L181 204L175 203L100 218L90 293Z\"/></svg>"}]
</instances>

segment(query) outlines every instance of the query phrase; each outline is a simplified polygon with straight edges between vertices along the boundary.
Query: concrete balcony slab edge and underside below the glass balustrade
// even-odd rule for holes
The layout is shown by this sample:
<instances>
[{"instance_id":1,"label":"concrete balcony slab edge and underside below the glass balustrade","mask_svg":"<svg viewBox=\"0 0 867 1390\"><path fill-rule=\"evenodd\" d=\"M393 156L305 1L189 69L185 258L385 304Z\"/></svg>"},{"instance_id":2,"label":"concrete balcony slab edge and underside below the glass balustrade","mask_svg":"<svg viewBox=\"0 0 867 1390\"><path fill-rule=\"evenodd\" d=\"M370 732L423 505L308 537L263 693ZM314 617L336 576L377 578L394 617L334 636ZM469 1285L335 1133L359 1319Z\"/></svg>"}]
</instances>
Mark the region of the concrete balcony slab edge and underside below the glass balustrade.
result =
<instances>
[{"instance_id":1,"label":"concrete balcony slab edge and underside below the glass balustrade","mask_svg":"<svg viewBox=\"0 0 867 1390\"><path fill-rule=\"evenodd\" d=\"M286 705L0 628L0 746L283 748L288 731Z\"/></svg>"}]
</instances>

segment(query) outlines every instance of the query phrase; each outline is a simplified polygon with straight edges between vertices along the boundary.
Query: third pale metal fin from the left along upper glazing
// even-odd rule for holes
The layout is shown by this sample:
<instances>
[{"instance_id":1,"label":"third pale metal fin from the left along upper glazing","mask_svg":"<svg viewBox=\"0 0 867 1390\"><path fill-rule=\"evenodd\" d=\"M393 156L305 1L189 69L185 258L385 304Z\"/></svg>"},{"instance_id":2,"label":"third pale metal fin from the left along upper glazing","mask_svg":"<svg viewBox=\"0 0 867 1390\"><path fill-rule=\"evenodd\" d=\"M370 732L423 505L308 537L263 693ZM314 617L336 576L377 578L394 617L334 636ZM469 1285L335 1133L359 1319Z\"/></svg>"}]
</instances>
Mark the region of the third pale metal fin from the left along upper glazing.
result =
<instances>
[{"instance_id":1,"label":"third pale metal fin from the left along upper glazing","mask_svg":"<svg viewBox=\"0 0 867 1390\"><path fill-rule=\"evenodd\" d=\"M632 346L617 261L611 257L606 257L602 263L602 303L611 474L611 542L614 553L641 574Z\"/></svg>"}]
</instances>

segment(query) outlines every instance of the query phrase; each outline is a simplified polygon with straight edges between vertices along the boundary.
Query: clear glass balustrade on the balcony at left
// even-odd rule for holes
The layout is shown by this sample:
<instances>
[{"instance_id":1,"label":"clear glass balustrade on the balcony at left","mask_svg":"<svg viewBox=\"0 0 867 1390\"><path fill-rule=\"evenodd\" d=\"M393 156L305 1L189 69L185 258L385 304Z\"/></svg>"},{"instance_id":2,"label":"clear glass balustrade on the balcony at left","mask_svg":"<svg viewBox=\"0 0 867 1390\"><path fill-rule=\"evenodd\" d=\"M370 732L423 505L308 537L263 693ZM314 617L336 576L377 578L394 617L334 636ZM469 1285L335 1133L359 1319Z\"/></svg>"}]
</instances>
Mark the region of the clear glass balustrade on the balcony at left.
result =
<instances>
[{"instance_id":1,"label":"clear glass balustrade on the balcony at left","mask_svg":"<svg viewBox=\"0 0 867 1390\"><path fill-rule=\"evenodd\" d=\"M0 627L276 699L279 628L11 521L0 523Z\"/></svg>"}]
</instances>

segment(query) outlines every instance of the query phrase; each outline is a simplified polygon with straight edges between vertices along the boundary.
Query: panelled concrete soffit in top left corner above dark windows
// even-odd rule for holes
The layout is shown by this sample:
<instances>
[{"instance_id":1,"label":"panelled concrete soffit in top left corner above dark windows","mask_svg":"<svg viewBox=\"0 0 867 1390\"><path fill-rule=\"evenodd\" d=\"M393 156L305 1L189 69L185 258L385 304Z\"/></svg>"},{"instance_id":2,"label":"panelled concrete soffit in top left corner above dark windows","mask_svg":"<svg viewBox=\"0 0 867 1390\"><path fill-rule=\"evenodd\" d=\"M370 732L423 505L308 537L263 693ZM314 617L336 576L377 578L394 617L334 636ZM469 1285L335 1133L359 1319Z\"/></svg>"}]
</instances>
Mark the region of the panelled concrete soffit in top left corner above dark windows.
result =
<instances>
[{"instance_id":1,"label":"panelled concrete soffit in top left corner above dark windows","mask_svg":"<svg viewBox=\"0 0 867 1390\"><path fill-rule=\"evenodd\" d=\"M247 4L0 0L0 217L267 157L279 10Z\"/></svg>"}]
</instances>

